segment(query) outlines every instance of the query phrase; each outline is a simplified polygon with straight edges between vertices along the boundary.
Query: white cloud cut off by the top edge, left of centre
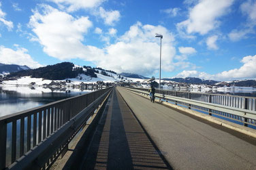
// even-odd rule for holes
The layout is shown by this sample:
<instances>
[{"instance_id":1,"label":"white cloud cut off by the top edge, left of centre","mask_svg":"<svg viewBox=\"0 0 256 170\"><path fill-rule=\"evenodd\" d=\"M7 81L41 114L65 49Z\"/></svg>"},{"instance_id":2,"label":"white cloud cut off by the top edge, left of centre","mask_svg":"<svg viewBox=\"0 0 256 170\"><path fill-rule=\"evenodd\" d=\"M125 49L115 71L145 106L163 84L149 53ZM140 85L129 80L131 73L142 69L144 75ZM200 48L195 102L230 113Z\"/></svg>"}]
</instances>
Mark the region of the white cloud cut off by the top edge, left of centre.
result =
<instances>
[{"instance_id":1,"label":"white cloud cut off by the top edge, left of centre","mask_svg":"<svg viewBox=\"0 0 256 170\"><path fill-rule=\"evenodd\" d=\"M78 9L88 9L99 6L103 1L106 0L80 0L80 1L74 1L74 0L47 0L52 1L54 3L57 3L59 7L65 8L67 7L68 12L74 12Z\"/></svg>"}]
</instances>

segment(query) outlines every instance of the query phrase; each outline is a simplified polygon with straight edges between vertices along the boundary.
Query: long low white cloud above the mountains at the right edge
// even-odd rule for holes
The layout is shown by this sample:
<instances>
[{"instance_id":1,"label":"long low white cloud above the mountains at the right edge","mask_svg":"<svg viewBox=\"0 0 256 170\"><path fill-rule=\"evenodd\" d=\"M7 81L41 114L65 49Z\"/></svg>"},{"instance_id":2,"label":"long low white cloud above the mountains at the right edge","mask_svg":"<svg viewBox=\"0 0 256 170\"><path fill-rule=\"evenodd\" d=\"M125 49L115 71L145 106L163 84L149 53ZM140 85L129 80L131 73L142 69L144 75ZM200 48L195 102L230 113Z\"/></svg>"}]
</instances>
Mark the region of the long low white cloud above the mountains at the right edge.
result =
<instances>
[{"instance_id":1,"label":"long low white cloud above the mountains at the right edge","mask_svg":"<svg viewBox=\"0 0 256 170\"><path fill-rule=\"evenodd\" d=\"M255 79L256 77L256 55L246 56L240 61L242 66L232 70L219 72L210 75L206 72L198 72L197 70L184 70L176 77L199 77L201 79L213 79L217 81L228 81L234 79Z\"/></svg>"}]
</instances>

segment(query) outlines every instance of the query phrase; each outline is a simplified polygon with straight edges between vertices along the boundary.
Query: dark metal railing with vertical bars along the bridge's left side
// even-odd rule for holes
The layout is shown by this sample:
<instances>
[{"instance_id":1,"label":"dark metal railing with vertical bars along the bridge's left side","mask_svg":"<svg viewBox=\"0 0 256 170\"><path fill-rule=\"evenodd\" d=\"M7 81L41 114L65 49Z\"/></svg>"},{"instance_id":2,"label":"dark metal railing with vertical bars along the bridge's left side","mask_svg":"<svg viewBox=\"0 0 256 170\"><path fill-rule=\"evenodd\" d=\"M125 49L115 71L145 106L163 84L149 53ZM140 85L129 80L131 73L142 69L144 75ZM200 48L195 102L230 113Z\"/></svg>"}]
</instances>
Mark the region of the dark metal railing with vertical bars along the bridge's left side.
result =
<instances>
[{"instance_id":1,"label":"dark metal railing with vertical bars along the bridge's left side","mask_svg":"<svg viewBox=\"0 0 256 170\"><path fill-rule=\"evenodd\" d=\"M1 117L0 169L8 166L8 169L45 169L67 147L111 89Z\"/></svg>"}]
</instances>

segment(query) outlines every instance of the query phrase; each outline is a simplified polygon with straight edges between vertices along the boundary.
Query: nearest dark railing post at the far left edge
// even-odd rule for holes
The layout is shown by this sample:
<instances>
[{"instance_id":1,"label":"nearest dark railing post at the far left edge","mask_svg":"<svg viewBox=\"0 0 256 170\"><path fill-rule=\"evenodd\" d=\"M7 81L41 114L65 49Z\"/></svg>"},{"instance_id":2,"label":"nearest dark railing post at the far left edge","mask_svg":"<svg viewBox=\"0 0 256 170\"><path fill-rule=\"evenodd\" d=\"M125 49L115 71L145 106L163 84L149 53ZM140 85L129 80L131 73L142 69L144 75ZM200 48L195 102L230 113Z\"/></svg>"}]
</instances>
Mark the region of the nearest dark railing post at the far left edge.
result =
<instances>
[{"instance_id":1,"label":"nearest dark railing post at the far left edge","mask_svg":"<svg viewBox=\"0 0 256 170\"><path fill-rule=\"evenodd\" d=\"M7 125L4 121L0 121L0 136L0 169L5 169Z\"/></svg>"}]
</instances>

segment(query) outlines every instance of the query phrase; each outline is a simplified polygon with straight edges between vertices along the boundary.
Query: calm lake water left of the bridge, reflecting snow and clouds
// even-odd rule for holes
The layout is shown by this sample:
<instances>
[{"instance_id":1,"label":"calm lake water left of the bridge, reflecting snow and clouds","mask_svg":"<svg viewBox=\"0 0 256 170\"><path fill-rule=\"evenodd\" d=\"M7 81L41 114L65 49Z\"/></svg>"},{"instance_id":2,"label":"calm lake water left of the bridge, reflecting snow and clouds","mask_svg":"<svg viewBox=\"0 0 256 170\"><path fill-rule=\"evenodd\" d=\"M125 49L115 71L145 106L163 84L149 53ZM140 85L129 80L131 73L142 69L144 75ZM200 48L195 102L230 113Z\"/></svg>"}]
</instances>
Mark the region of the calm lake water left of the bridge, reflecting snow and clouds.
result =
<instances>
[{"instance_id":1,"label":"calm lake water left of the bridge, reflecting snow and clouds","mask_svg":"<svg viewBox=\"0 0 256 170\"><path fill-rule=\"evenodd\" d=\"M43 87L0 87L0 116L89 93L92 89L49 89Z\"/></svg>"}]
</instances>

